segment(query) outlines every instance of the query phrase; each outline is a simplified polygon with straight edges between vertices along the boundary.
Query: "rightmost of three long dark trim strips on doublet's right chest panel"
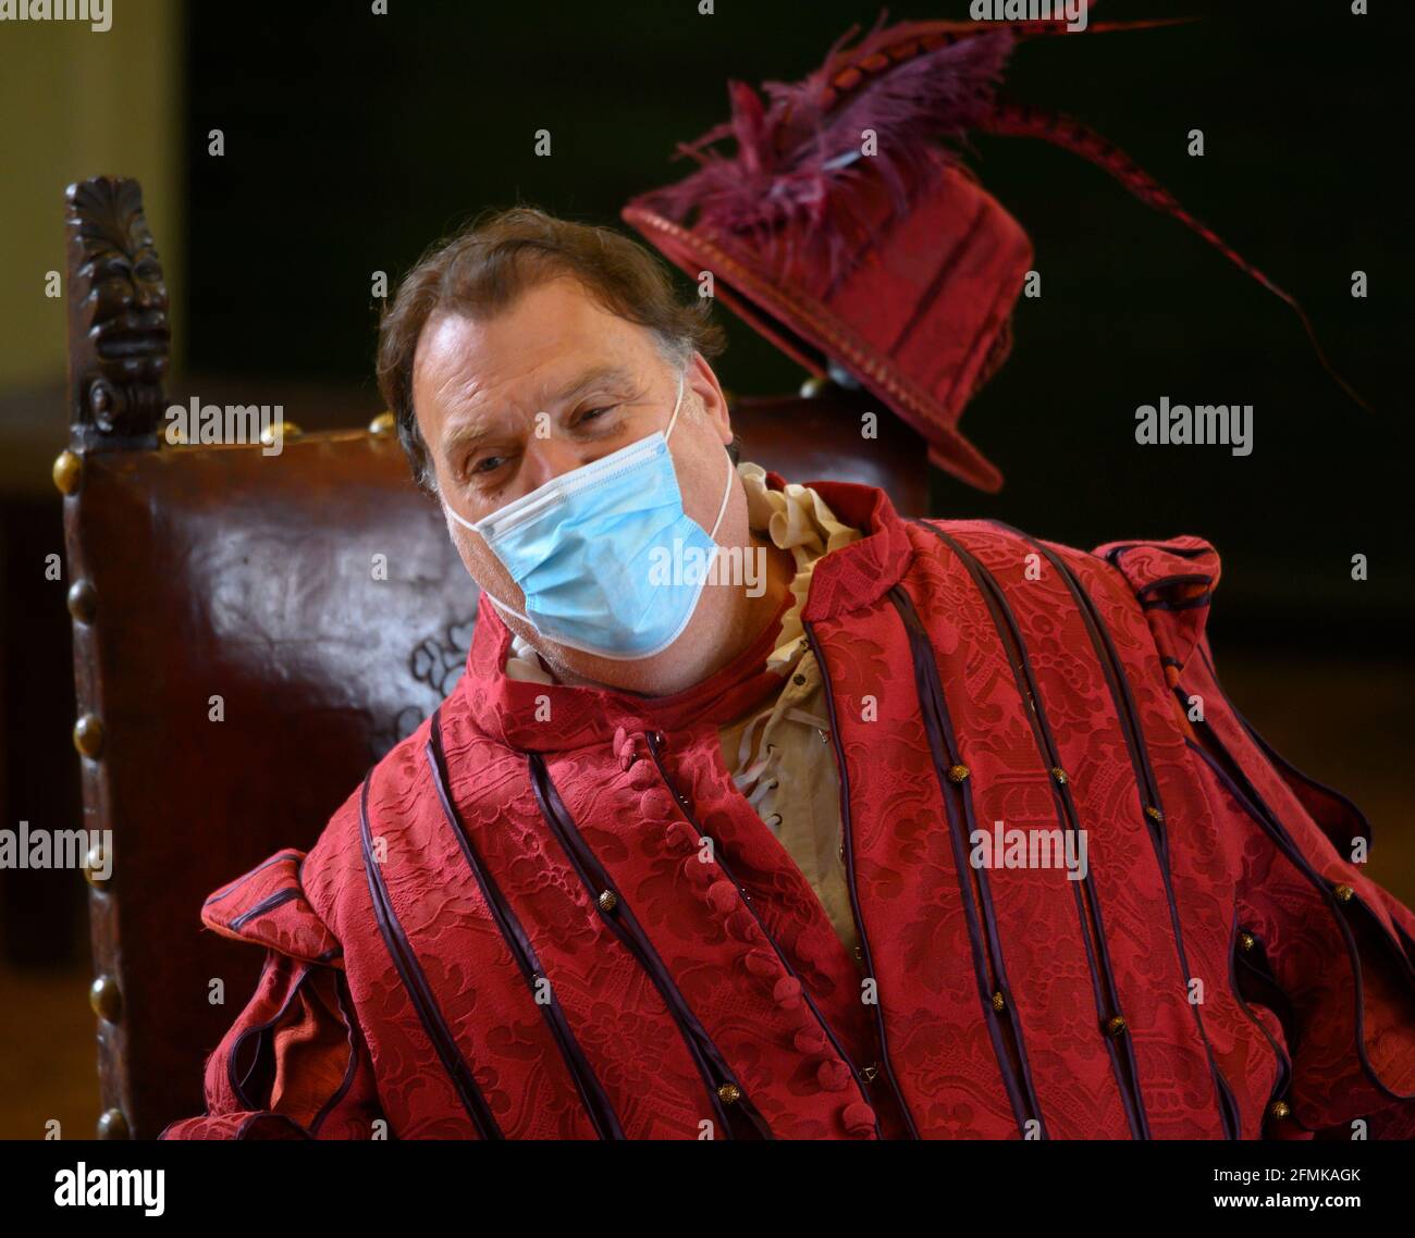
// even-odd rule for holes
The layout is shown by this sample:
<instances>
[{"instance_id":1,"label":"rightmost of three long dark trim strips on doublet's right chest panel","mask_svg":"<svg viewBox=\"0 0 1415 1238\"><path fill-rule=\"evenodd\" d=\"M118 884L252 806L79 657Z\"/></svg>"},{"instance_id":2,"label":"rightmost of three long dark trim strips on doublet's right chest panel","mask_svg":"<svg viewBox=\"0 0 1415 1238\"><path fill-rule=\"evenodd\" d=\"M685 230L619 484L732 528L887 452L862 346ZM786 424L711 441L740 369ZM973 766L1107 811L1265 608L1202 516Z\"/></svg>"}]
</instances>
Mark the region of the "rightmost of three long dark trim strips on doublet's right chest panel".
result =
<instances>
[{"instance_id":1,"label":"rightmost of three long dark trim strips on doublet's right chest panel","mask_svg":"<svg viewBox=\"0 0 1415 1238\"><path fill-rule=\"evenodd\" d=\"M1081 623L1087 630L1087 635L1091 638L1091 648L1095 651L1097 665L1099 665L1101 675L1105 678L1105 685L1111 693L1111 703L1115 706L1116 717L1121 722L1121 734L1125 739L1125 747L1129 751L1131 765L1135 773L1136 795L1149 798L1149 805L1143 802L1143 798L1140 801L1140 821L1145 822L1150 843L1155 847L1155 864L1159 869L1160 880L1165 886L1165 901L1169 904L1169 924L1170 932L1174 937L1174 952L1180 968L1180 980L1187 992L1189 979L1193 976L1193 972L1189 969L1189 956L1184 949L1184 934L1180 927L1179 901L1174 898L1174 883L1169 860L1169 832L1166 831L1163 821L1153 821L1145 811L1148 806L1153 806L1163 814L1165 802L1159 794L1159 780L1155 777L1155 768L1149 758L1149 746L1145 741L1145 729L1139 720L1139 710L1135 707L1135 696L1131 692L1129 679L1125 675L1121 656L1115 649L1115 642L1111 640L1109 631L1101 623L1101 615L1095 607L1095 601L1081 584L1080 579L1077 579L1070 563L1067 563L1060 555L1054 553L1050 548L1043 546L1034 538L1023 533L1020 529L1013 529L1010 525L1003 525L1000 521L993 521L993 523L1015 536L1022 538L1029 546L1036 548L1039 553L1044 555L1047 562L1051 563L1051 566L1061 576L1061 580L1065 582L1067 590L1075 600L1077 613L1081 615ZM1218 1060L1214 1057L1214 1048L1208 1040L1208 1031L1204 1027L1204 1017L1196 1003L1190 1003L1190 1006L1194 1012L1194 1024L1199 1029L1199 1039L1204 1043L1204 1054L1208 1058L1208 1072L1214 1081L1214 1092L1218 1098L1218 1112L1224 1121L1224 1130L1230 1139L1238 1139L1238 1106L1234 1102L1228 1080L1224 1078L1224 1072L1218 1067Z\"/></svg>"}]
</instances>

